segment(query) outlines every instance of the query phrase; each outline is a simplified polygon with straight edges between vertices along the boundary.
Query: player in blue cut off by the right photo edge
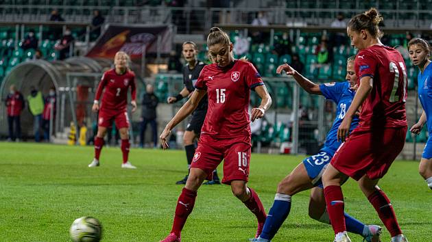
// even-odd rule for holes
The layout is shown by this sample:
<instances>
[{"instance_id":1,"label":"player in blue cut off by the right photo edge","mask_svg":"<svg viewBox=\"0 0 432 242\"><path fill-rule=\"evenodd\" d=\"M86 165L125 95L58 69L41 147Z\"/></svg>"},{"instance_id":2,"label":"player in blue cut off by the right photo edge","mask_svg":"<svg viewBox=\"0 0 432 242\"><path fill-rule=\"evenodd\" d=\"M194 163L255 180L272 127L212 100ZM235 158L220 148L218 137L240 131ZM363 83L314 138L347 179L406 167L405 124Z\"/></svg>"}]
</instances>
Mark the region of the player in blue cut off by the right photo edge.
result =
<instances>
[{"instance_id":1,"label":"player in blue cut off by the right photo edge","mask_svg":"<svg viewBox=\"0 0 432 242\"><path fill-rule=\"evenodd\" d=\"M432 65L431 47L426 40L414 38L408 43L409 59L414 66L418 66L418 99L423 107L422 116L410 131L419 134L422 131L423 125L427 122L427 130L429 131L429 139L424 146L422 159L418 171L426 180L427 185L432 189Z\"/></svg>"}]
</instances>

